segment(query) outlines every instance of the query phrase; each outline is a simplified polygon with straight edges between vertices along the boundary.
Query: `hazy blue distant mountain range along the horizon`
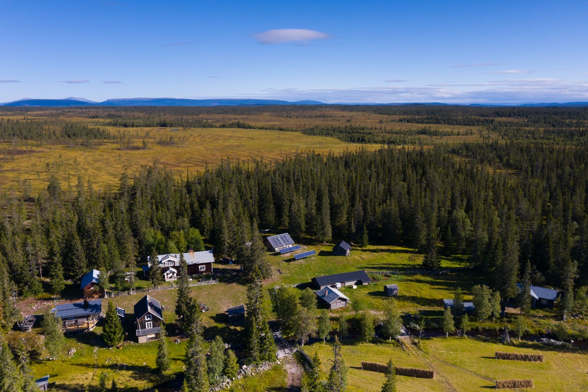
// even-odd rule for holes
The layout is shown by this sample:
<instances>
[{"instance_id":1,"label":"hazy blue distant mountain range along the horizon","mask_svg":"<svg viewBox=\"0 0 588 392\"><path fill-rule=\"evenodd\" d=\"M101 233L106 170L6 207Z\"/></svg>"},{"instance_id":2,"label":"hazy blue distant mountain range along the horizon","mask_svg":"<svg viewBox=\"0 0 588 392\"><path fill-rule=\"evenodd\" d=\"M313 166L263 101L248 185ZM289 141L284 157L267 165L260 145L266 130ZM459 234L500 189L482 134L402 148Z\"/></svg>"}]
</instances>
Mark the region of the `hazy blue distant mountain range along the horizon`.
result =
<instances>
[{"instance_id":1,"label":"hazy blue distant mountain range along the horizon","mask_svg":"<svg viewBox=\"0 0 588 392\"><path fill-rule=\"evenodd\" d=\"M323 103L317 100L298 100L289 102L276 99L182 99L182 98L119 98L107 99L103 102L94 102L85 98L69 97L65 99L21 99L14 102L0 103L0 106L44 106L44 107L66 107L66 106L264 106L264 105L460 105L460 106L522 106L522 107L583 107L588 102L567 102L567 103L520 103L517 105L505 103Z\"/></svg>"}]
</instances>

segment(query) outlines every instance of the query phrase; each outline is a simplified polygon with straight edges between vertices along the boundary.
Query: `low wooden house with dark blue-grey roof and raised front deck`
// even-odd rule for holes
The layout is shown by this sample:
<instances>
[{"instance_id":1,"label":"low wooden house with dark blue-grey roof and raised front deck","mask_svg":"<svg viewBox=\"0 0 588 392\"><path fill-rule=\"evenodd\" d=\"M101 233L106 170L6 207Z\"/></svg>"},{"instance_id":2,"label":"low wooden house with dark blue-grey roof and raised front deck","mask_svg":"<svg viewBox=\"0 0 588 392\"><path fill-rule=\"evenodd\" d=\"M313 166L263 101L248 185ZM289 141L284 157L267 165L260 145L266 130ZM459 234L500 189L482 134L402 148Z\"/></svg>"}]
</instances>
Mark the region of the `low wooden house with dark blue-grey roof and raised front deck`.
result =
<instances>
[{"instance_id":1,"label":"low wooden house with dark blue-grey roof and raised front deck","mask_svg":"<svg viewBox=\"0 0 588 392\"><path fill-rule=\"evenodd\" d=\"M102 300L59 304L51 313L61 319L64 333L88 332L102 317Z\"/></svg>"}]
</instances>

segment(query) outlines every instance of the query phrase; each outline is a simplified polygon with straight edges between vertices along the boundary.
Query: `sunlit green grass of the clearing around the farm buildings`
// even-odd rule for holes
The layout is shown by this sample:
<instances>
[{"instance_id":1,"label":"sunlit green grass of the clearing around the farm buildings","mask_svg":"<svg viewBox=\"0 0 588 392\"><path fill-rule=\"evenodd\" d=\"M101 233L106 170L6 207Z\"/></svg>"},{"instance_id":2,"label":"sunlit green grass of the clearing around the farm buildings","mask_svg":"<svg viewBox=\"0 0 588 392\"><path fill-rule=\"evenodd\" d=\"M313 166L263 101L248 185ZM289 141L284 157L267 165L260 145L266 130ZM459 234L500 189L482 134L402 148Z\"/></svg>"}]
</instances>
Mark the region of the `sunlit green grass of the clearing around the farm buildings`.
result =
<instances>
[{"instance_id":1,"label":"sunlit green grass of the clearing around the farm buildings","mask_svg":"<svg viewBox=\"0 0 588 392\"><path fill-rule=\"evenodd\" d=\"M410 270L419 269L422 255L402 247L369 246L365 249L353 249L349 257L331 256L330 245L308 246L308 249L316 250L318 255L296 262L292 261L291 256L269 255L273 276L264 282L266 289L272 290L274 286L283 284L308 283L313 276L356 269L395 270L399 273L376 280L369 286L360 286L355 290L344 289L344 292L352 301L362 301L366 309L378 311L383 308L385 301L390 300L389 297L383 296L383 285L396 282L400 287L397 301L401 310L410 313L416 309L425 310L427 316L437 317L442 311L442 299L452 298L456 287L460 286L465 290L467 299L470 287L479 282L475 275L464 271L459 274L407 274ZM460 257L442 261L443 268L465 265L465 260ZM277 269L280 269L282 274L277 273ZM202 313L207 326L205 338L212 339L220 335L229 343L239 344L242 342L241 327L226 324L225 310L246 302L246 287L242 284L238 267L217 264L215 270L218 273L219 284L192 287L193 296L210 308L208 312ZM123 295L112 300L116 306L121 306L127 313L132 314L133 305L143 295ZM164 318L166 323L170 324L169 334L173 335L171 323L175 319L173 310L176 290L158 290L151 292L150 295L165 305ZM267 295L266 306L271 310ZM343 311L352 312L350 309ZM132 334L131 314L128 316L127 325L128 331ZM335 317L336 314L332 316ZM101 341L98 336L100 331L101 327L96 327L92 333L68 337L68 347L75 347L77 350L75 355L57 361L35 360L35 374L50 374L52 380L58 383L58 390L64 391L84 390L98 382L98 375L101 372L105 372L109 377L115 377L121 386L139 389L151 387L156 381L162 380L162 376L155 373L155 343L139 345L129 341L121 349L100 347L94 357L93 347ZM472 336L475 334L475 331L470 332ZM11 339L17 336L21 334L12 333ZM34 344L40 347L41 336L38 329L25 336L29 341L29 347ZM182 372L185 341L175 344L172 342L176 337L170 336L168 339L173 363L171 370L164 377L171 378ZM495 378L534 378L536 390L545 391L581 391L588 387L588 357L580 352L556 351L526 343L519 343L515 347L503 347L483 340L457 337L425 339L422 350L412 346L403 350L396 343L387 341L363 343L345 340L343 343L343 356L350 366L349 392L379 391L383 375L362 371L360 363L362 360L386 363L390 358L395 361L396 366L433 368L438 375L434 380L399 377L399 391L482 391L492 386ZM311 355L315 350L318 351L323 362L323 370L328 371L329 359L332 356L329 343L310 344L305 346L305 350ZM546 355L546 362L532 364L490 359L496 350L540 352ZM285 391L285 378L285 370L276 366L262 375L233 384L230 390ZM569 380L574 382L570 383Z\"/></svg>"}]
</instances>

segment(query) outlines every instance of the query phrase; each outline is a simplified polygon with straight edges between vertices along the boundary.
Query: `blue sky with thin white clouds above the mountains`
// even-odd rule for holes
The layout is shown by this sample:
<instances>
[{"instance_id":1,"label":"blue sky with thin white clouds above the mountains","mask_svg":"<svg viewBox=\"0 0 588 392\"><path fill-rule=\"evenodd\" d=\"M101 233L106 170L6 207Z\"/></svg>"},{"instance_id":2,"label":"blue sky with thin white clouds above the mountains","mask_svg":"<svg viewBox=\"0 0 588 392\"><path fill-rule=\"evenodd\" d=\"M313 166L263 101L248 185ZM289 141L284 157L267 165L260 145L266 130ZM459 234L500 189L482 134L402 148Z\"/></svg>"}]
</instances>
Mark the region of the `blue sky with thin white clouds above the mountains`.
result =
<instances>
[{"instance_id":1,"label":"blue sky with thin white clouds above the mountains","mask_svg":"<svg viewBox=\"0 0 588 392\"><path fill-rule=\"evenodd\" d=\"M588 101L588 2L2 0L0 102Z\"/></svg>"}]
</instances>

